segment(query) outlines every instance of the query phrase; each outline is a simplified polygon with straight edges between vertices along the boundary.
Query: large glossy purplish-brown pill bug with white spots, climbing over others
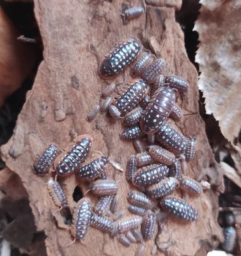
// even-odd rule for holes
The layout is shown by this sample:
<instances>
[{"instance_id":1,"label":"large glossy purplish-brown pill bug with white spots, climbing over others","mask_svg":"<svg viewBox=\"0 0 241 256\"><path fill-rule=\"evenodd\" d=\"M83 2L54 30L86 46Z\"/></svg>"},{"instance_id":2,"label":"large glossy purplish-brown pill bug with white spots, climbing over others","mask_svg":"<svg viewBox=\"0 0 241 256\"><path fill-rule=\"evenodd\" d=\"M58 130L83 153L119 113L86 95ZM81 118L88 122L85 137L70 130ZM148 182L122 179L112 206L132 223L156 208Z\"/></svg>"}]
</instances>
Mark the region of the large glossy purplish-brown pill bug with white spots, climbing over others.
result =
<instances>
[{"instance_id":1,"label":"large glossy purplish-brown pill bug with white spots, climbing over others","mask_svg":"<svg viewBox=\"0 0 241 256\"><path fill-rule=\"evenodd\" d=\"M175 92L162 87L153 95L150 103L141 116L141 129L146 134L157 132L169 116L175 104Z\"/></svg>"}]
</instances>

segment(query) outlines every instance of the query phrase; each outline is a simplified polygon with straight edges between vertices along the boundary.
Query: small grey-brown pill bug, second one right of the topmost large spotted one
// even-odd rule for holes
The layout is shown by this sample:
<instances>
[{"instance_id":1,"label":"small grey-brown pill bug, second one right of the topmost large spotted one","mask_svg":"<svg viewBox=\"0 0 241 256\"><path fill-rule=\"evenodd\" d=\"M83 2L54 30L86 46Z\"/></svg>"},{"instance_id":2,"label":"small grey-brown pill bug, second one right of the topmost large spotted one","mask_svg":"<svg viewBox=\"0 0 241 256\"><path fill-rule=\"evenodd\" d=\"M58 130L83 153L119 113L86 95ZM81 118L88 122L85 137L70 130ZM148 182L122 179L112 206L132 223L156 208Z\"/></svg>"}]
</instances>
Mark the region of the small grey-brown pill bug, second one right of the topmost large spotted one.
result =
<instances>
[{"instance_id":1,"label":"small grey-brown pill bug, second one right of the topmost large spotted one","mask_svg":"<svg viewBox=\"0 0 241 256\"><path fill-rule=\"evenodd\" d=\"M148 84L152 84L155 78L164 72L165 61L162 59L155 60L150 67L143 72L141 78Z\"/></svg>"}]
</instances>

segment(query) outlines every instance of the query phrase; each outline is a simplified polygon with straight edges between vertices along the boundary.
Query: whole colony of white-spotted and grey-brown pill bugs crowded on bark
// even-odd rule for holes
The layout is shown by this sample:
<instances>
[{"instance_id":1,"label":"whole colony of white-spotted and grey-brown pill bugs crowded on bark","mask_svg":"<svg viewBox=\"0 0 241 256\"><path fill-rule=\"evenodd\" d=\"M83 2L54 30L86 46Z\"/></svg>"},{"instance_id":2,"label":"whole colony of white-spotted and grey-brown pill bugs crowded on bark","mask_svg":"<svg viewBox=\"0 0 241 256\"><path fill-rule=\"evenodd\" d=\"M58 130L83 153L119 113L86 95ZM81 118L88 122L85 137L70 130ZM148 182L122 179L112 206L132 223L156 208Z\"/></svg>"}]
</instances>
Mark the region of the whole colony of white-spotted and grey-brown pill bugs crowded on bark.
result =
<instances>
[{"instance_id":1,"label":"whole colony of white-spotted and grey-brown pill bugs crowded on bark","mask_svg":"<svg viewBox=\"0 0 241 256\"><path fill-rule=\"evenodd\" d=\"M143 8L134 8L123 15L131 20L143 12ZM118 210L119 186L109 179L107 157L87 160L93 143L88 134L75 138L61 153L55 144L49 145L33 166L37 175L45 175L49 170L56 173L56 179L47 182L47 189L57 207L68 205L58 176L75 173L80 186L82 181L89 181L88 193L98 196L95 205L87 197L75 205L69 228L74 240L66 246L82 239L93 227L109 233L123 246L139 243L136 255L141 255L144 242L153 239L160 214L182 219L187 224L198 219L191 200L186 202L173 196L175 189L182 189L185 195L203 193L203 183L187 177L185 170L186 162L194 159L196 138L186 138L169 122L169 118L182 118L182 111L175 103L176 95L187 92L189 83L182 77L166 76L165 61L150 52L139 56L142 48L137 40L129 39L106 54L98 67L102 79L113 79L133 65L130 72L134 80L115 95L115 84L107 86L101 95L103 102L87 116L91 122L101 111L108 112L113 120L122 120L126 129L120 138L132 141L136 148L137 155L128 158L125 170L127 181L136 186L127 191L131 215L123 218L125 209ZM157 207L159 211L154 211Z\"/></svg>"}]
</instances>

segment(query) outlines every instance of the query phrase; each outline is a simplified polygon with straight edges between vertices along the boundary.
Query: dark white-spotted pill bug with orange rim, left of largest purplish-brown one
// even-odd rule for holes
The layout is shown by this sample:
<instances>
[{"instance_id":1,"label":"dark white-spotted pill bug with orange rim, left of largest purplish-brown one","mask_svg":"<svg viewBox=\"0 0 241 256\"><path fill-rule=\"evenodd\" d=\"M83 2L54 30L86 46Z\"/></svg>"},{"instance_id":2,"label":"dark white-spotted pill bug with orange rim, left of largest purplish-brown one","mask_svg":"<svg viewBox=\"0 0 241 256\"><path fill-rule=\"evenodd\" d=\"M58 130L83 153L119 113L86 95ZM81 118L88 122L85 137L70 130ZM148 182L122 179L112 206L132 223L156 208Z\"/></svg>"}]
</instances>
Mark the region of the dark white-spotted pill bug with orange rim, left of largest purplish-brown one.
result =
<instances>
[{"instance_id":1,"label":"dark white-spotted pill bug with orange rim, left of largest purplish-brown one","mask_svg":"<svg viewBox=\"0 0 241 256\"><path fill-rule=\"evenodd\" d=\"M147 84L142 79L134 79L120 90L113 100L119 115L132 111L146 94Z\"/></svg>"}]
</instances>

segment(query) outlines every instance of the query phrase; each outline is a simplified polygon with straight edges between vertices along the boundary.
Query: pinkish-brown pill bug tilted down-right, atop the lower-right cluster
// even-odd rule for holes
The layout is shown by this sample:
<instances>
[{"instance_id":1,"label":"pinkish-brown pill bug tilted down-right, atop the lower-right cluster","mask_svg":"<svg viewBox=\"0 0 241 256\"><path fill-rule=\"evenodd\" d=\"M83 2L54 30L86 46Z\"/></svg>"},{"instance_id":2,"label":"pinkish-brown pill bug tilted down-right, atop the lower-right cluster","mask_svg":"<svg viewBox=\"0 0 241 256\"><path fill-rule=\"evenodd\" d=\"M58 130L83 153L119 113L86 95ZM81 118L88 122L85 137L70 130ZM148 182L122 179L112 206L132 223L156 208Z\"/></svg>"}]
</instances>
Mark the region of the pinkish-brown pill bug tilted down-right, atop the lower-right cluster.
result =
<instances>
[{"instance_id":1,"label":"pinkish-brown pill bug tilted down-right, atop the lower-right cluster","mask_svg":"<svg viewBox=\"0 0 241 256\"><path fill-rule=\"evenodd\" d=\"M174 154L159 146L150 147L149 154L155 161L167 166L175 163L176 160Z\"/></svg>"}]
</instances>

